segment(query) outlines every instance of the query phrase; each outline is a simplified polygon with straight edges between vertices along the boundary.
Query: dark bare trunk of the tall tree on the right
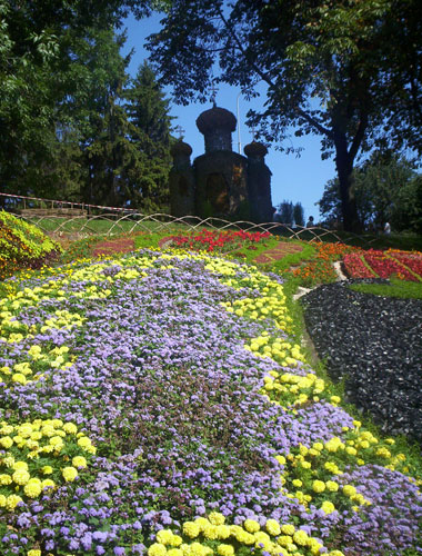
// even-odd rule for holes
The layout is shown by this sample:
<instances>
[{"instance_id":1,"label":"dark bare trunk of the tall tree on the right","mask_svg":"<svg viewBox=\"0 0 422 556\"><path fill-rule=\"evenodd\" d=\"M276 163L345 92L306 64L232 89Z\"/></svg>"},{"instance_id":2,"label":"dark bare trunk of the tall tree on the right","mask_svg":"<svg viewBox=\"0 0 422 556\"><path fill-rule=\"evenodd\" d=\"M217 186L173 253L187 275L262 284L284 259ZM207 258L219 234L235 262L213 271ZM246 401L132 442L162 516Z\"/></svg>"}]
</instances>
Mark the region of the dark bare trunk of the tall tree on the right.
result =
<instances>
[{"instance_id":1,"label":"dark bare trunk of the tall tree on the right","mask_svg":"<svg viewBox=\"0 0 422 556\"><path fill-rule=\"evenodd\" d=\"M345 133L335 132L335 168L339 176L341 212L345 231L359 232L361 229L356 202L352 192L353 158L348 152Z\"/></svg>"}]
</instances>

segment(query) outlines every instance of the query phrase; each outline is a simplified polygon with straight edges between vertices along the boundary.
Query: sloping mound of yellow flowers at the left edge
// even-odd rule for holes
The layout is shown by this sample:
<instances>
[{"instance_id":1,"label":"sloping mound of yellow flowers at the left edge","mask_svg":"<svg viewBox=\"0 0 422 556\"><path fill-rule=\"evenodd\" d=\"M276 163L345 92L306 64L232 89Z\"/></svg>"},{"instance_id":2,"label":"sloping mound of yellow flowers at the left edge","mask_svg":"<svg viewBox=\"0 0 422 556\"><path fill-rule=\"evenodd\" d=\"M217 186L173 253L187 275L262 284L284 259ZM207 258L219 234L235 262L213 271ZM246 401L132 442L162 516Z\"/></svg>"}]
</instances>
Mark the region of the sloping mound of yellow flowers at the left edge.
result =
<instances>
[{"instance_id":1,"label":"sloping mound of yellow flowers at the left edge","mask_svg":"<svg viewBox=\"0 0 422 556\"><path fill-rule=\"evenodd\" d=\"M22 268L40 268L59 251L38 228L0 210L0 280Z\"/></svg>"}]
</instances>

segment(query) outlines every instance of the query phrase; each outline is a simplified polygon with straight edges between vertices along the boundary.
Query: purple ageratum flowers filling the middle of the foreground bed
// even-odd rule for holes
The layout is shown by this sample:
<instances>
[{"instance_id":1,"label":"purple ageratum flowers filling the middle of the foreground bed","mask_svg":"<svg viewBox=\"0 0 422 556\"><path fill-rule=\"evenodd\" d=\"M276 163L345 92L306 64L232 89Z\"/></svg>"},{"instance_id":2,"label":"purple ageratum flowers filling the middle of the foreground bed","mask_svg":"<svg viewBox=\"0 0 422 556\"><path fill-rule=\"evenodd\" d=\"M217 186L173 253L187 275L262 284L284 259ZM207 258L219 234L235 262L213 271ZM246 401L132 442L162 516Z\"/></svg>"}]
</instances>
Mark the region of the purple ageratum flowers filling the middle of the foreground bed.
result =
<instances>
[{"instance_id":1,"label":"purple ageratum flowers filling the middle of the foreground bed","mask_svg":"<svg viewBox=\"0 0 422 556\"><path fill-rule=\"evenodd\" d=\"M49 493L39 527L54 524L54 542L80 554L82 538L96 554L120 548L128 535L133 546L143 546L158 528L178 528L212 508L229 520L244 516L262 524L267 517L285 523L300 516L314 534L330 536L339 514L307 512L287 498L274 456L340 434L350 416L321 403L293 417L265 401L258 394L262 377L280 367L243 344L264 329L285 335L270 321L248 321L218 305L259 292L221 285L202 261L172 260L173 269L168 264L157 260L142 280L118 280L118 295L108 300L77 299L72 292L83 288L70 282L66 300L43 302L46 314L66 308L88 317L81 330L40 338L63 341L78 360L51 373L50 380L10 394L22 400L22 416L43 408L78 423L99 451L89 487L70 484ZM26 310L30 325L36 311ZM63 498L68 507L49 513ZM105 548L96 538L96 520L108 527ZM60 537L62 527L69 534Z\"/></svg>"}]
</instances>

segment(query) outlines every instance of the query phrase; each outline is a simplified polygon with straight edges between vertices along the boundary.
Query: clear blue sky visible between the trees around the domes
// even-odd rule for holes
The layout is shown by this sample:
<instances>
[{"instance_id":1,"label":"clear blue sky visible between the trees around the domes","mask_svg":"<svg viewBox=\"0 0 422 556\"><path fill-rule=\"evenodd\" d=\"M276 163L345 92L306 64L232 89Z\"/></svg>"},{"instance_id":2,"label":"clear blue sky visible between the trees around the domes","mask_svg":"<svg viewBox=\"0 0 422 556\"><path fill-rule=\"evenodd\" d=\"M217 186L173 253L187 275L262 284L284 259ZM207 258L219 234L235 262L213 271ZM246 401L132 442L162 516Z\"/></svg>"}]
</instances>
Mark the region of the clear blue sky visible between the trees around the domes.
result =
<instances>
[{"instance_id":1,"label":"clear blue sky visible between the trees around the domes","mask_svg":"<svg viewBox=\"0 0 422 556\"><path fill-rule=\"evenodd\" d=\"M153 14L151 18L140 21L137 21L133 17L129 17L124 21L128 40L122 53L125 54L131 48L134 49L129 66L129 72L132 76L137 73L139 66L148 58L149 52L143 48L143 44L149 34L160 29L160 19L161 16ZM165 88L164 92L171 99L171 88ZM217 105L232 111L237 116L239 92L240 89L233 87L220 87L217 93ZM261 98L247 101L243 97L239 97L242 155L243 147L252 141L252 133L244 125L245 115L250 108L257 108L264 100L264 98ZM191 160L204 151L203 136L199 132L195 120L202 111L211 107L211 101L205 105L192 103L187 107L171 102L171 116L177 118L173 120L173 126L181 126L184 129L184 141L193 149ZM238 152L238 131L232 135L232 140L233 150ZM280 152L274 146L270 147L269 153L265 157L265 162L272 171L272 203L275 207L284 199L293 201L293 203L301 202L305 212L305 219L312 215L315 221L318 221L319 208L314 203L321 198L326 181L335 177L334 161L332 159L321 160L320 139L316 136L308 136L300 139L292 137L291 141L287 141L285 147L293 145L294 148L304 148L300 158L297 158L295 155Z\"/></svg>"}]
</instances>

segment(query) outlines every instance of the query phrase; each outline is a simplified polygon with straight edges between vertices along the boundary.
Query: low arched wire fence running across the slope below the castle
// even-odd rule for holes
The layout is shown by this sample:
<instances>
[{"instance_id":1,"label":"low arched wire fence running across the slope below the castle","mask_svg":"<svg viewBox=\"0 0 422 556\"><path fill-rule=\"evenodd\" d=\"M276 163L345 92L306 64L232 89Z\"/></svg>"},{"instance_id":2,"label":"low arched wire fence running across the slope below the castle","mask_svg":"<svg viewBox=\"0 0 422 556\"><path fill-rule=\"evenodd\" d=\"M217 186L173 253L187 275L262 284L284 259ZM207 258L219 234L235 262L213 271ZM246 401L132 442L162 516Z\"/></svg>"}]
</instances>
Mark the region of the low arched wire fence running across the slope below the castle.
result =
<instances>
[{"instance_id":1,"label":"low arched wire fence running across the slope below the castle","mask_svg":"<svg viewBox=\"0 0 422 556\"><path fill-rule=\"evenodd\" d=\"M38 226L49 236L58 238L79 239L92 235L107 237L129 236L138 232L169 232L169 235L174 235L209 229L220 231L268 231L284 239L346 244L358 247L371 247L376 241L374 236L330 230L318 226L305 228L275 221L257 224L248 220L231 221L215 217L205 219L198 216L173 217L162 212L144 215L133 209L57 201L37 197L7 193L0 193L0 197L3 200L6 210Z\"/></svg>"}]
</instances>

